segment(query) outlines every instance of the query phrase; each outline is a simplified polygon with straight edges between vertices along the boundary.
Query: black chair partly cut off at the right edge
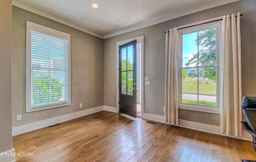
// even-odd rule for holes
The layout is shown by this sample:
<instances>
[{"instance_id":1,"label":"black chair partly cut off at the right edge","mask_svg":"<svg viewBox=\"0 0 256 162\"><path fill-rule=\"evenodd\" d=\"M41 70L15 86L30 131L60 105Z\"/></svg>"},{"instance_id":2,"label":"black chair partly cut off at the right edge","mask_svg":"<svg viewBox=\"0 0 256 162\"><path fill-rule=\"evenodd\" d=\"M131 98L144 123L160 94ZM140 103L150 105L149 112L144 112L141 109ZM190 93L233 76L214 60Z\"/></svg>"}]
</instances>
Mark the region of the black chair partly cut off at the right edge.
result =
<instances>
[{"instance_id":1,"label":"black chair partly cut off at the right edge","mask_svg":"<svg viewBox=\"0 0 256 162\"><path fill-rule=\"evenodd\" d=\"M246 122L241 122L246 132L252 134L254 150L256 151L256 97L244 96L242 111ZM242 159L243 162L256 162Z\"/></svg>"}]
</instances>

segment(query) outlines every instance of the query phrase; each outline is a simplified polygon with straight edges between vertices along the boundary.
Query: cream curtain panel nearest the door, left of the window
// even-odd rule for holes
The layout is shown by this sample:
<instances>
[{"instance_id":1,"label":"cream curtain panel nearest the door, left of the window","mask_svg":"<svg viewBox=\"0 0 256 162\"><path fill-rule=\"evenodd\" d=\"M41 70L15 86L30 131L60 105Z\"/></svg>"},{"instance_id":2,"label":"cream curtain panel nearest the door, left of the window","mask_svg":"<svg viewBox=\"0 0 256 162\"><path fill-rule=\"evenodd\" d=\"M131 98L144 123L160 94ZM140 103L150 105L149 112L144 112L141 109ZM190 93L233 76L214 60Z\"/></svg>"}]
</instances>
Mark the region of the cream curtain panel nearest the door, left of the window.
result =
<instances>
[{"instance_id":1,"label":"cream curtain panel nearest the door, left of the window","mask_svg":"<svg viewBox=\"0 0 256 162\"><path fill-rule=\"evenodd\" d=\"M180 34L166 30L165 122L178 125L178 62Z\"/></svg>"}]
</instances>

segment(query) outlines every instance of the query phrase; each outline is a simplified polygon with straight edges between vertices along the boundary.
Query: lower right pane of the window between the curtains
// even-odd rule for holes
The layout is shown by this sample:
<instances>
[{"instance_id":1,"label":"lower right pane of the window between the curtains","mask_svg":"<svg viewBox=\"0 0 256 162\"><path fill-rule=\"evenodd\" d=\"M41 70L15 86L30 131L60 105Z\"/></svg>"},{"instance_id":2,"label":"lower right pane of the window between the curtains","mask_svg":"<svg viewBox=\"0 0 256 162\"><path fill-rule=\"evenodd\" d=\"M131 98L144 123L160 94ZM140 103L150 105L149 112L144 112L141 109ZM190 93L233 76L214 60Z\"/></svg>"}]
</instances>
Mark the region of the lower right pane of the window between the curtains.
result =
<instances>
[{"instance_id":1,"label":"lower right pane of the window between the curtains","mask_svg":"<svg viewBox=\"0 0 256 162\"><path fill-rule=\"evenodd\" d=\"M216 106L216 68L202 68L199 78L199 104Z\"/></svg>"}]
</instances>

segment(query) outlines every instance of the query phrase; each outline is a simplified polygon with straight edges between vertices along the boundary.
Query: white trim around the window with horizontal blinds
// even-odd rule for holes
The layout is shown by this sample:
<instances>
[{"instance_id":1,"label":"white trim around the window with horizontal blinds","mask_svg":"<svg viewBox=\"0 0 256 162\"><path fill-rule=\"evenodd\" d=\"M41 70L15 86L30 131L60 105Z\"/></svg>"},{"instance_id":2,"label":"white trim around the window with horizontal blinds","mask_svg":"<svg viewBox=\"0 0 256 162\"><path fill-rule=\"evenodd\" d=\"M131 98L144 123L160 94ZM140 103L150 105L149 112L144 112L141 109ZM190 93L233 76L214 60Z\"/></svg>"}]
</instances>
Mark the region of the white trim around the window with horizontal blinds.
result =
<instances>
[{"instance_id":1,"label":"white trim around the window with horizontal blinds","mask_svg":"<svg viewBox=\"0 0 256 162\"><path fill-rule=\"evenodd\" d=\"M60 104L53 104L49 106L41 106L37 108L31 108L31 30L48 34L51 36L55 36L58 38L68 40L68 102L60 103ZM68 106L71 104L71 66L70 66L70 34L48 28L46 26L42 26L39 24L35 24L33 22L27 21L26 24L26 112L34 112L39 110L45 110L50 108L56 108L61 106Z\"/></svg>"}]
</instances>

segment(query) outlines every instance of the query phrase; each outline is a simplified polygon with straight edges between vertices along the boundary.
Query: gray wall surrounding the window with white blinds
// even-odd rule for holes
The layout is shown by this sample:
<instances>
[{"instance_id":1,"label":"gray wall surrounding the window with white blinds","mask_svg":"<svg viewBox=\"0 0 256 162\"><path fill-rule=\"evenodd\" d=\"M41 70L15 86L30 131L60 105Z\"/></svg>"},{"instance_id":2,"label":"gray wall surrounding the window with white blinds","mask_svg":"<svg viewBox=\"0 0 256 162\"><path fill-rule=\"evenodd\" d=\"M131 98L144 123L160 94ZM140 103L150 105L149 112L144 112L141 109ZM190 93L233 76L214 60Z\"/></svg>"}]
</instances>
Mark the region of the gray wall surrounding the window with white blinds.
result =
<instances>
[{"instance_id":1,"label":"gray wall surrounding the window with white blinds","mask_svg":"<svg viewBox=\"0 0 256 162\"><path fill-rule=\"evenodd\" d=\"M26 20L71 35L70 106L26 113ZM10 84L11 81L8 80L8 82ZM82 108L80 108L80 103L83 104ZM12 126L20 126L98 106L103 106L103 39L13 6ZM20 121L16 121L18 114L22 115Z\"/></svg>"}]
</instances>

